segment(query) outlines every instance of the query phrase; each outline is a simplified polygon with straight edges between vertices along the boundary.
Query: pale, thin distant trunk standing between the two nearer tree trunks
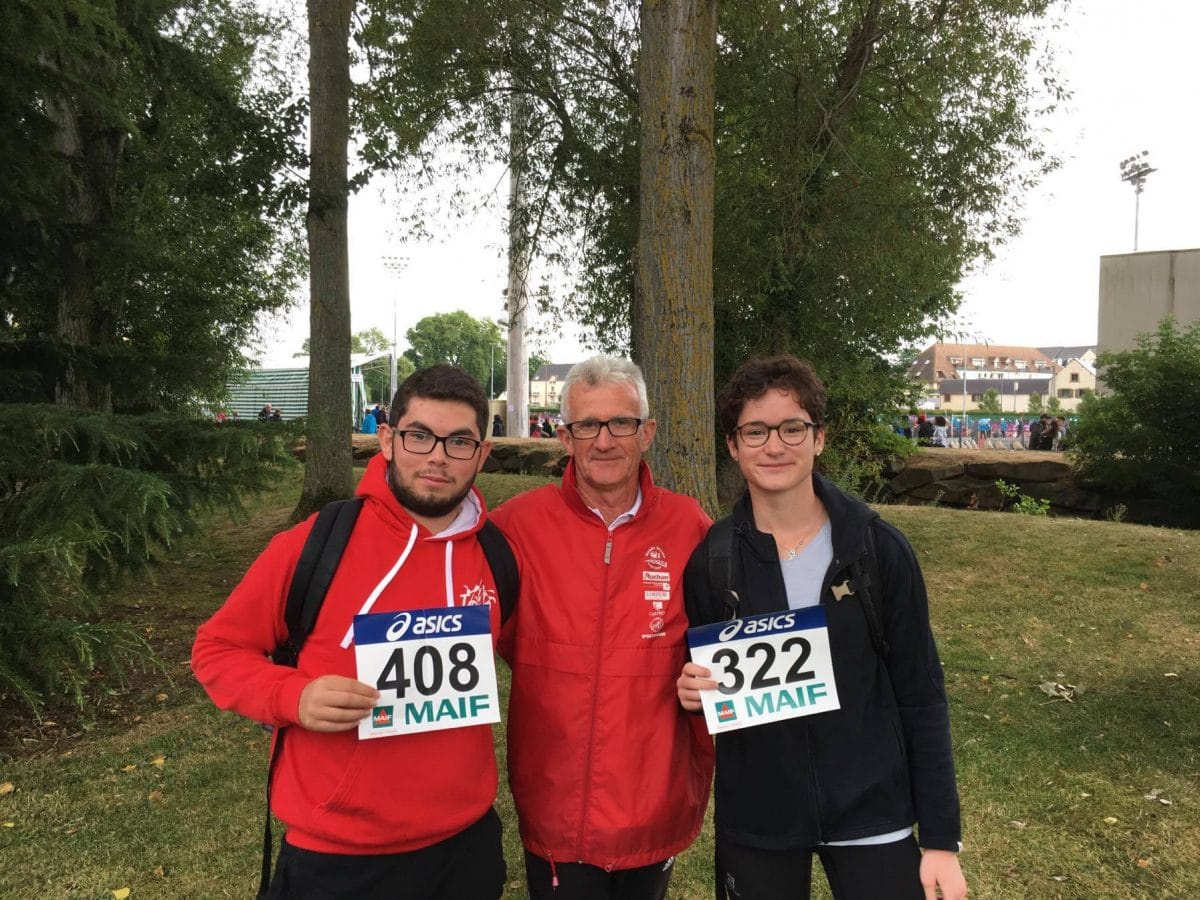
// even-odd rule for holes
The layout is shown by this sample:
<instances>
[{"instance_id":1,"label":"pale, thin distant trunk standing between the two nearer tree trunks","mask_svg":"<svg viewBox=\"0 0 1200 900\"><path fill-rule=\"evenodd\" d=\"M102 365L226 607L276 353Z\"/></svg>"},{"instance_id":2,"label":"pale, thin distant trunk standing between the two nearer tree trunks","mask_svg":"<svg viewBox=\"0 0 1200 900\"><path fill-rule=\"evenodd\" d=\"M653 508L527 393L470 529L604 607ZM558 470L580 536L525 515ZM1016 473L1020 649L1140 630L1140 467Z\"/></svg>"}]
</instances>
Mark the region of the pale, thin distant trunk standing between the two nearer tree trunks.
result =
<instances>
[{"instance_id":1,"label":"pale, thin distant trunk standing between the two nearer tree trunks","mask_svg":"<svg viewBox=\"0 0 1200 900\"><path fill-rule=\"evenodd\" d=\"M529 206L526 184L526 140L528 138L528 100L512 94L509 102L509 283L506 312L509 317L508 344L508 410L506 433L510 438L529 437L529 355L524 332L529 324Z\"/></svg>"}]
</instances>

